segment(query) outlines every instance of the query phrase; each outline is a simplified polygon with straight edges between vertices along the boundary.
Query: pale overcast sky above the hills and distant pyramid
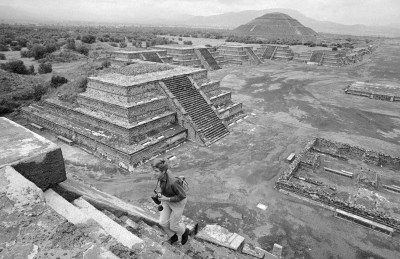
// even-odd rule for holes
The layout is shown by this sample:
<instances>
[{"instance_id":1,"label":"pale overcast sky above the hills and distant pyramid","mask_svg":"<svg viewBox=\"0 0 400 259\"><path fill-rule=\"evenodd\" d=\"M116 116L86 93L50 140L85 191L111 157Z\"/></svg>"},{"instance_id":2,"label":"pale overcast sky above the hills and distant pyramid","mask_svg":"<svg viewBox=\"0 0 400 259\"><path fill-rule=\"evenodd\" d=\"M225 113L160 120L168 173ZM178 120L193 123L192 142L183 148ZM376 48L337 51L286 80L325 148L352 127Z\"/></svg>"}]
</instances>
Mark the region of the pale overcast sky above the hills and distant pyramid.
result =
<instances>
[{"instance_id":1,"label":"pale overcast sky above the hills and distant pyramid","mask_svg":"<svg viewBox=\"0 0 400 259\"><path fill-rule=\"evenodd\" d=\"M400 24L400 0L0 0L42 18L127 21L289 8L343 24Z\"/></svg>"}]
</instances>

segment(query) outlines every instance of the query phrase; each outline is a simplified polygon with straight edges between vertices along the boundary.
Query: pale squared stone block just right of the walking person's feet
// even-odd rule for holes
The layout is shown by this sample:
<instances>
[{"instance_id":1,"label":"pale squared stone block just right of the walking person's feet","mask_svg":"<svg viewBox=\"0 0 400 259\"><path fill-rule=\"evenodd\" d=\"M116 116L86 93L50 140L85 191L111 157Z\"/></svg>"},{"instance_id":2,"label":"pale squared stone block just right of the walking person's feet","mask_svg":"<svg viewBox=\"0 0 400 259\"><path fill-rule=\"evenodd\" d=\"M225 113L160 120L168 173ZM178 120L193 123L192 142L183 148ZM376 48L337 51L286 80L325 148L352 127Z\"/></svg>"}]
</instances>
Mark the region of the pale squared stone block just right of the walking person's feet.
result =
<instances>
[{"instance_id":1,"label":"pale squared stone block just right of the walking person's feet","mask_svg":"<svg viewBox=\"0 0 400 259\"><path fill-rule=\"evenodd\" d=\"M220 246L224 246L235 251L239 250L244 242L244 237L231 233L227 229L218 225L207 225L196 238L205 240Z\"/></svg>"}]
</instances>

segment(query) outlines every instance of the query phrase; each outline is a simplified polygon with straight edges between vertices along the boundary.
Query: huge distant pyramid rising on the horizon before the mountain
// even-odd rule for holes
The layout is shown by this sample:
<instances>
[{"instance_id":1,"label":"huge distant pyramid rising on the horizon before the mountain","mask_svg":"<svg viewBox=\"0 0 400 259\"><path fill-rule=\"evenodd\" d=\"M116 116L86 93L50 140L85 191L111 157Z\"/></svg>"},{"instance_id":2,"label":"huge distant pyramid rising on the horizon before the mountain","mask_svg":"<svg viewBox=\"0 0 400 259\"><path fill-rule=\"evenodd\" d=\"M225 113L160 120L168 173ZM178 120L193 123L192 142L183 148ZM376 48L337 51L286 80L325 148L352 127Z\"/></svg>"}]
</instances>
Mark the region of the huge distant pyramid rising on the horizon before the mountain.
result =
<instances>
[{"instance_id":1,"label":"huge distant pyramid rising on the horizon before the mountain","mask_svg":"<svg viewBox=\"0 0 400 259\"><path fill-rule=\"evenodd\" d=\"M316 41L317 33L284 13L267 13L240 25L234 32L263 39Z\"/></svg>"}]
</instances>

